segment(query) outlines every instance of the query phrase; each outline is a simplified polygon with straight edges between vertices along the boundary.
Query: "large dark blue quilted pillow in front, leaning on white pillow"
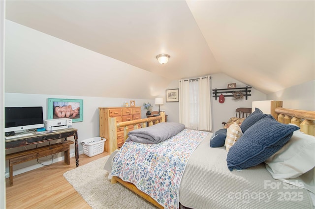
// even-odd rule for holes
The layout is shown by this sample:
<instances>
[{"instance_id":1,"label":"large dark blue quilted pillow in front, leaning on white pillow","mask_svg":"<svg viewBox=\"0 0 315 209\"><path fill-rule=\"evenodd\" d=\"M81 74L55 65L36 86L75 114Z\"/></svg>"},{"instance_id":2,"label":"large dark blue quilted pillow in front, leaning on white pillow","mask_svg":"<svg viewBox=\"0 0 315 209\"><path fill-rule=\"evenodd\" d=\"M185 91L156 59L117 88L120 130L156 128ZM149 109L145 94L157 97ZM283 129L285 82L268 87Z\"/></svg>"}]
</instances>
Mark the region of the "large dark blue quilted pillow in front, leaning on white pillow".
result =
<instances>
[{"instance_id":1,"label":"large dark blue quilted pillow in front, leaning on white pillow","mask_svg":"<svg viewBox=\"0 0 315 209\"><path fill-rule=\"evenodd\" d=\"M274 118L266 118L252 125L227 153L227 167L246 169L265 161L280 150L300 128L281 124Z\"/></svg>"}]
</instances>

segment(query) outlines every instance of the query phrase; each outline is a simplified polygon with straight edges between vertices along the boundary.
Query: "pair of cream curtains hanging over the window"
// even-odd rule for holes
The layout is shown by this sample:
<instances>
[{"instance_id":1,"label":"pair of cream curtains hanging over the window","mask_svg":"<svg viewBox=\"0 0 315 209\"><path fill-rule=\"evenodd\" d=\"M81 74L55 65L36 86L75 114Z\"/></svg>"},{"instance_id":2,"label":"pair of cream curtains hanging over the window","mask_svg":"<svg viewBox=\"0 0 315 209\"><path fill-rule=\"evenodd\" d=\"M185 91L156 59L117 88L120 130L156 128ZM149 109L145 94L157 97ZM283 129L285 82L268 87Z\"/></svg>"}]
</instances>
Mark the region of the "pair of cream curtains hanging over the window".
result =
<instances>
[{"instance_id":1,"label":"pair of cream curtains hanging over the window","mask_svg":"<svg viewBox=\"0 0 315 209\"><path fill-rule=\"evenodd\" d=\"M212 131L210 78L179 80L179 122L187 128Z\"/></svg>"}]
</instances>

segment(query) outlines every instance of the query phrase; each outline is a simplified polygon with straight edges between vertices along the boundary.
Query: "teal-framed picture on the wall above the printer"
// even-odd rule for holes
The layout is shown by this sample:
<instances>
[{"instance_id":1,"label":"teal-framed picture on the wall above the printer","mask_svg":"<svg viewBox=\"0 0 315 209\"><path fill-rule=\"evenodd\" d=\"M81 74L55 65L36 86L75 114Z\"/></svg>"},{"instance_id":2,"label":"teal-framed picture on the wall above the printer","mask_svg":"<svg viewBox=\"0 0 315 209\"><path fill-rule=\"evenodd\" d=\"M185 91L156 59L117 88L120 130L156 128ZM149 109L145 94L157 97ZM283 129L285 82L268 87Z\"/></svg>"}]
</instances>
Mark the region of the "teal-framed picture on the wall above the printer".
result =
<instances>
[{"instance_id":1,"label":"teal-framed picture on the wall above the printer","mask_svg":"<svg viewBox=\"0 0 315 209\"><path fill-rule=\"evenodd\" d=\"M83 121L83 100L48 98L48 119L70 118Z\"/></svg>"}]
</instances>

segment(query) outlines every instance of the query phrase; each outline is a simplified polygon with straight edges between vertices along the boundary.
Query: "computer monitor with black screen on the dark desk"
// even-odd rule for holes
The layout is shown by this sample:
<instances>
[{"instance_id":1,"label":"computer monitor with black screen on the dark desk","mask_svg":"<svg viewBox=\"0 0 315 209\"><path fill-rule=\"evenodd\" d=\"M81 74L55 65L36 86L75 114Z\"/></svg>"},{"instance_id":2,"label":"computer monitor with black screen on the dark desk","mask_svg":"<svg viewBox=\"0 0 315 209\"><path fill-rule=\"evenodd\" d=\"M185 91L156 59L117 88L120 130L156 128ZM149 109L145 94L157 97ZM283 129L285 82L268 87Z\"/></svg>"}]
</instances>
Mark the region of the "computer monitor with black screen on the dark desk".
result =
<instances>
[{"instance_id":1,"label":"computer monitor with black screen on the dark desk","mask_svg":"<svg viewBox=\"0 0 315 209\"><path fill-rule=\"evenodd\" d=\"M4 132L22 132L44 127L43 107L5 107Z\"/></svg>"}]
</instances>

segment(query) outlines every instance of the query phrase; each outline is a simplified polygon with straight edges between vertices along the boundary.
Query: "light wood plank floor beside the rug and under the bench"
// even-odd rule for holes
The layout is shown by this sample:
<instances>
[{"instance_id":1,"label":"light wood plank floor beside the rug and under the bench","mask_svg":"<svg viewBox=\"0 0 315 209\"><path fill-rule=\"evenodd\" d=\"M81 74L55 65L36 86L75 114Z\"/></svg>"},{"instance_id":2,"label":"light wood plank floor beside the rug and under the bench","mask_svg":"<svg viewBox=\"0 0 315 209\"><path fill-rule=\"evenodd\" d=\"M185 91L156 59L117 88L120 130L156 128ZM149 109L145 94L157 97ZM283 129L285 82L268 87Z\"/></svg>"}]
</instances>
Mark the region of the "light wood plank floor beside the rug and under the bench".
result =
<instances>
[{"instance_id":1,"label":"light wood plank floor beside the rug and under the bench","mask_svg":"<svg viewBox=\"0 0 315 209\"><path fill-rule=\"evenodd\" d=\"M79 166L100 157L84 154L79 156ZM6 179L7 209L91 209L85 200L68 183L63 173L76 168L75 157L70 158L70 165L64 161L56 162L13 177L13 186Z\"/></svg>"}]
</instances>

